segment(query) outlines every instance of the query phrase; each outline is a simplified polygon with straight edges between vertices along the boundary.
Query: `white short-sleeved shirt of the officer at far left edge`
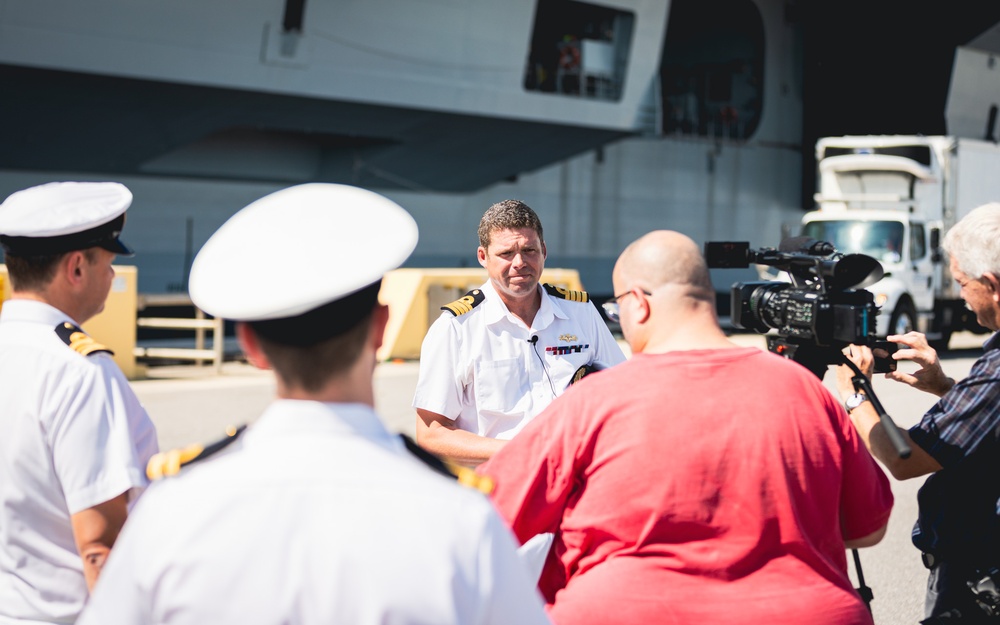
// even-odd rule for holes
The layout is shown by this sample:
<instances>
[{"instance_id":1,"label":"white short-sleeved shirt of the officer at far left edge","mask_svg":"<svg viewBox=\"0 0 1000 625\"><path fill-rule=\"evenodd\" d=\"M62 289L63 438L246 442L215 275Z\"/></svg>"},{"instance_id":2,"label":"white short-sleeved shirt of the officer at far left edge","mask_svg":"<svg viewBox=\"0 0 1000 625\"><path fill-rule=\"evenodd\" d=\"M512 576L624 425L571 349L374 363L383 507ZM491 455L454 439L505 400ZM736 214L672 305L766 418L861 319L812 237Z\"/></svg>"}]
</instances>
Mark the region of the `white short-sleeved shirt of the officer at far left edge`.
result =
<instances>
[{"instance_id":1,"label":"white short-sleeved shirt of the officer at far left edge","mask_svg":"<svg viewBox=\"0 0 1000 625\"><path fill-rule=\"evenodd\" d=\"M156 429L106 353L41 302L0 311L0 623L72 623L87 586L71 515L146 485Z\"/></svg>"}]
</instances>

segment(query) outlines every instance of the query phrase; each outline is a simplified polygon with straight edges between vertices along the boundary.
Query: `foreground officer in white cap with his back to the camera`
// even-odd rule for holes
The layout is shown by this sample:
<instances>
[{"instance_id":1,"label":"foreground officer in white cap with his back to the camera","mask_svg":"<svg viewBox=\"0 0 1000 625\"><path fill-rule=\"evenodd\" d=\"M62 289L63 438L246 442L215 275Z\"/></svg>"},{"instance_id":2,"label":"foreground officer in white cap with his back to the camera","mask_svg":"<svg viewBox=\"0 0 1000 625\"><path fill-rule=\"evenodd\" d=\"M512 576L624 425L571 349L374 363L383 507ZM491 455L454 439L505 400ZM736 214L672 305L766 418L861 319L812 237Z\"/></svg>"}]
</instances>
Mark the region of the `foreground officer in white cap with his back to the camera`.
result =
<instances>
[{"instance_id":1,"label":"foreground officer in white cap with his back to the camera","mask_svg":"<svg viewBox=\"0 0 1000 625\"><path fill-rule=\"evenodd\" d=\"M484 495L428 469L374 412L379 284L416 242L393 202L318 183L257 200L208 240L191 297L237 321L278 397L156 483L81 624L548 622Z\"/></svg>"}]
</instances>

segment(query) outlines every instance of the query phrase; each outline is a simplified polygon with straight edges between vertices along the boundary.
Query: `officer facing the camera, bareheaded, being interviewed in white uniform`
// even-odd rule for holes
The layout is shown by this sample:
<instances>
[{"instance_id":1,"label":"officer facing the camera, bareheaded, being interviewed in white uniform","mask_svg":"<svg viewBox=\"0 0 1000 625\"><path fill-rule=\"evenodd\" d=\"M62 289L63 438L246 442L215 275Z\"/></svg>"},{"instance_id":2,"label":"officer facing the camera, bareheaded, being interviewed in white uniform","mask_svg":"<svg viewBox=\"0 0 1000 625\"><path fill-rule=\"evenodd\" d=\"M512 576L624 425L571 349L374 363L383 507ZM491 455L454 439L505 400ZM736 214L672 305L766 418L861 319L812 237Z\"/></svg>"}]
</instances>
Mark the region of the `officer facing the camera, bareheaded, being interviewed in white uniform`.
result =
<instances>
[{"instance_id":1,"label":"officer facing the camera, bareheaded, being interviewed in white uniform","mask_svg":"<svg viewBox=\"0 0 1000 625\"><path fill-rule=\"evenodd\" d=\"M539 284L542 222L504 200L479 222L489 279L444 306L420 348L417 442L466 465L488 460L574 376L625 360L584 292Z\"/></svg>"}]
</instances>

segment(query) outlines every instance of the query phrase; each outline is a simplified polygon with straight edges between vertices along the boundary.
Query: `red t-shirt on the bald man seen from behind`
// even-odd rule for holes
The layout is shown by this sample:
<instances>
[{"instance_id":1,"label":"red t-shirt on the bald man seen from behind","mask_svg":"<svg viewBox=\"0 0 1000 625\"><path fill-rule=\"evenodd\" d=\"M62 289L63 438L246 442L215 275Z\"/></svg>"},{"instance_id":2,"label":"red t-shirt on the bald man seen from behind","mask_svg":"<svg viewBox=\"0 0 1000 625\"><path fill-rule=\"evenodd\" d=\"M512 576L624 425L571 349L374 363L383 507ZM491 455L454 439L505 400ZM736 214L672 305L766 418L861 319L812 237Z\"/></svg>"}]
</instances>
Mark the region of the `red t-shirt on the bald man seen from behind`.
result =
<instances>
[{"instance_id":1,"label":"red t-shirt on the bald man seen from behind","mask_svg":"<svg viewBox=\"0 0 1000 625\"><path fill-rule=\"evenodd\" d=\"M844 537L888 522L889 483L789 360L638 354L480 471L522 542L556 534L539 582L556 623L871 623Z\"/></svg>"}]
</instances>

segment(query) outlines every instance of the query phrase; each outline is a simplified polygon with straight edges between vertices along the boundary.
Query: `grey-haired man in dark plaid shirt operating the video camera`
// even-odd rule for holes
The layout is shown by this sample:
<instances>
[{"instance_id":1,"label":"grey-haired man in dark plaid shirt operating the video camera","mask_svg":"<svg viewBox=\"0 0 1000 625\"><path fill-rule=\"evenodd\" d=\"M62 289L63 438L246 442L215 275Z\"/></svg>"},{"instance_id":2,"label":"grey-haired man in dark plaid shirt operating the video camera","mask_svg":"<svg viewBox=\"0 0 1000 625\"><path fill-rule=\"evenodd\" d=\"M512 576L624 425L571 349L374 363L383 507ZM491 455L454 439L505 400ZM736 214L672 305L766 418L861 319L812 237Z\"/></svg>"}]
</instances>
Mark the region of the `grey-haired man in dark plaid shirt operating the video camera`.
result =
<instances>
[{"instance_id":1,"label":"grey-haired man in dark plaid shirt operating the video camera","mask_svg":"<svg viewBox=\"0 0 1000 625\"><path fill-rule=\"evenodd\" d=\"M847 410L865 445L893 476L931 474L920 489L913 528L913 544L930 569L922 622L996 622L987 608L992 604L996 614L1000 582L1000 203L970 212L945 236L944 248L966 306L994 334L969 375L958 382L945 375L923 334L888 337L901 344L894 359L912 360L920 368L886 377L941 398L903 433L913 443L912 454L899 457L871 402L855 392L853 372L846 365L838 370L837 384L848 397ZM871 376L869 348L852 345L845 353Z\"/></svg>"}]
</instances>

